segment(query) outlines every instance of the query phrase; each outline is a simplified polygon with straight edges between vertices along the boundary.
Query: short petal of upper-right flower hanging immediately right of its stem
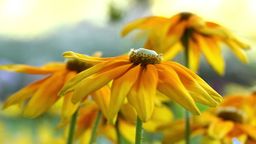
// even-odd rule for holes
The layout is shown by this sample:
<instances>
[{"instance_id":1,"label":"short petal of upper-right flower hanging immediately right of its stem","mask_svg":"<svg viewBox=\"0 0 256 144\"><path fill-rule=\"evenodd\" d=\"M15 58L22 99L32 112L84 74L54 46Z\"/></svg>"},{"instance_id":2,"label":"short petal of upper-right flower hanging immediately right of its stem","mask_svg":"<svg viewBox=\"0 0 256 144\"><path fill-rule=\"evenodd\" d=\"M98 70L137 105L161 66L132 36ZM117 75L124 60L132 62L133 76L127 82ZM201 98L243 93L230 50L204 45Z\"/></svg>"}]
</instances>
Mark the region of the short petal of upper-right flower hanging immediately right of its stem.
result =
<instances>
[{"instance_id":1,"label":"short petal of upper-right flower hanging immediately right of its stem","mask_svg":"<svg viewBox=\"0 0 256 144\"><path fill-rule=\"evenodd\" d=\"M188 59L189 59L189 69L193 72L197 72L200 63L200 49L198 43L192 38L188 39Z\"/></svg>"}]
</instances>

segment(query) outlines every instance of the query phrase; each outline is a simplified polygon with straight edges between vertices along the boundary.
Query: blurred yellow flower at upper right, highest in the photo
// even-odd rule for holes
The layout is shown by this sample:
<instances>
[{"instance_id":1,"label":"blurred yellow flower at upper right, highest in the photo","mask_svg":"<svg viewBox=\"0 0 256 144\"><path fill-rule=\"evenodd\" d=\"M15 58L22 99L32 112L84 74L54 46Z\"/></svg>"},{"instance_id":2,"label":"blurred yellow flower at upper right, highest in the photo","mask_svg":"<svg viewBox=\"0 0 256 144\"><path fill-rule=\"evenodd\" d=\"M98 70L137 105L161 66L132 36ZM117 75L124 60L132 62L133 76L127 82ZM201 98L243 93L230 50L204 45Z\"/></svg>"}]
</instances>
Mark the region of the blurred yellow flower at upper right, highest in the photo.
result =
<instances>
[{"instance_id":1,"label":"blurred yellow flower at upper right, highest in the photo","mask_svg":"<svg viewBox=\"0 0 256 144\"><path fill-rule=\"evenodd\" d=\"M149 37L144 48L162 53L164 60L170 60L183 50L185 35L188 34L189 68L197 72L202 52L212 68L223 75L225 62L221 55L219 43L229 46L236 57L246 63L248 60L244 49L249 46L238 40L225 27L205 22L190 12L181 12L171 18L151 16L135 20L124 26L122 36L134 29L149 29Z\"/></svg>"}]
</instances>

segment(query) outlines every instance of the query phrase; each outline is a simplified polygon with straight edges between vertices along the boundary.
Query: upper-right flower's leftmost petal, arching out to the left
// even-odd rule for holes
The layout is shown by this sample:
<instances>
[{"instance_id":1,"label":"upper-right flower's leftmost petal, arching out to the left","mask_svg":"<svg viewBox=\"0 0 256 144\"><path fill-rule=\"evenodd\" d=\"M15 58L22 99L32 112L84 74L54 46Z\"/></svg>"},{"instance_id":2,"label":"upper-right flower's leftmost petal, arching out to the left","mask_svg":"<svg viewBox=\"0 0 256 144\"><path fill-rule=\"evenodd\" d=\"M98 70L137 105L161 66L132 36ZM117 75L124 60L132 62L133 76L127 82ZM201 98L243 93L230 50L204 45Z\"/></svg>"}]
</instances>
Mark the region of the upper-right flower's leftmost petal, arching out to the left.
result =
<instances>
[{"instance_id":1,"label":"upper-right flower's leftmost petal, arching out to the left","mask_svg":"<svg viewBox=\"0 0 256 144\"><path fill-rule=\"evenodd\" d=\"M160 17L160 16L151 16L151 17L135 20L124 26L124 28L122 29L121 36L126 36L136 28L141 28L141 29L152 28L153 26L162 24L167 20L168 20L167 18Z\"/></svg>"}]
</instances>

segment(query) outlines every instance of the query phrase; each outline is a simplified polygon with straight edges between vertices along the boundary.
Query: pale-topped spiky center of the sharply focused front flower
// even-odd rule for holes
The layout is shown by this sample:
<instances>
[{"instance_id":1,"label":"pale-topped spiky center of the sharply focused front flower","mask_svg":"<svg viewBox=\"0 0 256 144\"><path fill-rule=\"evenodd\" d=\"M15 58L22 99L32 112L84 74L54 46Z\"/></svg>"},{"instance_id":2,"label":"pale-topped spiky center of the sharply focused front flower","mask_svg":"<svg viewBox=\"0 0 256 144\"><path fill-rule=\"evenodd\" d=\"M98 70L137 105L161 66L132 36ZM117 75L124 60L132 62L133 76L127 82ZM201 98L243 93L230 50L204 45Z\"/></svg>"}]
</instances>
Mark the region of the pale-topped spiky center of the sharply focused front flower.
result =
<instances>
[{"instance_id":1,"label":"pale-topped spiky center of the sharply focused front flower","mask_svg":"<svg viewBox=\"0 0 256 144\"><path fill-rule=\"evenodd\" d=\"M130 61L134 64L141 64L145 66L147 64L160 64L163 60L162 54L158 54L154 50L145 48L131 49L129 52Z\"/></svg>"}]
</instances>

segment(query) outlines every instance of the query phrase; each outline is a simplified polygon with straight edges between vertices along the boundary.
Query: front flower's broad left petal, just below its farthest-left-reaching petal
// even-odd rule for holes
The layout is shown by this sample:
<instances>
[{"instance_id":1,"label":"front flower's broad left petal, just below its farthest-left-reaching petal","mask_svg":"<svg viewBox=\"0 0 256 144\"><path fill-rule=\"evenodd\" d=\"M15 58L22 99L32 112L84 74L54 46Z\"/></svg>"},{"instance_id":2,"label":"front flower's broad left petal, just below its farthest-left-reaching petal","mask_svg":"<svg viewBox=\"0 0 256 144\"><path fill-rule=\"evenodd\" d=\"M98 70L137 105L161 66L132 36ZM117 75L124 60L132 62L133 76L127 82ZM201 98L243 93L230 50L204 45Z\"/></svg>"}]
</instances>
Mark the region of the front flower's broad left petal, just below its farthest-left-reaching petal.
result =
<instances>
[{"instance_id":1,"label":"front flower's broad left petal, just below its farthest-left-reaching petal","mask_svg":"<svg viewBox=\"0 0 256 144\"><path fill-rule=\"evenodd\" d=\"M86 77L79 85L77 85L77 87L75 87L72 103L76 104L86 95L107 85L111 80L126 72L132 65L133 63L125 61L114 63L103 68L99 72Z\"/></svg>"}]
</instances>

